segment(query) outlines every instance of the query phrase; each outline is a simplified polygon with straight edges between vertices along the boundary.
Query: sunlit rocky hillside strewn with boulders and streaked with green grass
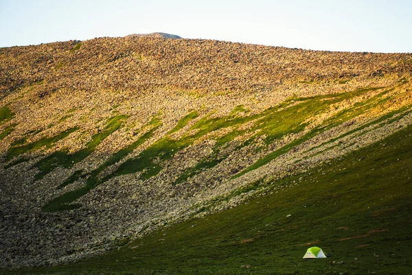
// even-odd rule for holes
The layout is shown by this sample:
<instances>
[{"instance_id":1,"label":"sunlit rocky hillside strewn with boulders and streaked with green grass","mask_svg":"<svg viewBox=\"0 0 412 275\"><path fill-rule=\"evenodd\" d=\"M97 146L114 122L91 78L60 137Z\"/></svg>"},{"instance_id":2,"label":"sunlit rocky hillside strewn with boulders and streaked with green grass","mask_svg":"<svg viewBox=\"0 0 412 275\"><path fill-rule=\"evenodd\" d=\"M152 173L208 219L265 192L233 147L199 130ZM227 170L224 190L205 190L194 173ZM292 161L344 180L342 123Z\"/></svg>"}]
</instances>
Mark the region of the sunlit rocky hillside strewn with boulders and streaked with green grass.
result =
<instances>
[{"instance_id":1,"label":"sunlit rocky hillside strewn with boulders and streaked with green grass","mask_svg":"<svg viewBox=\"0 0 412 275\"><path fill-rule=\"evenodd\" d=\"M1 48L0 265L101 254L265 195L412 124L411 76L412 54L222 41Z\"/></svg>"}]
</instances>

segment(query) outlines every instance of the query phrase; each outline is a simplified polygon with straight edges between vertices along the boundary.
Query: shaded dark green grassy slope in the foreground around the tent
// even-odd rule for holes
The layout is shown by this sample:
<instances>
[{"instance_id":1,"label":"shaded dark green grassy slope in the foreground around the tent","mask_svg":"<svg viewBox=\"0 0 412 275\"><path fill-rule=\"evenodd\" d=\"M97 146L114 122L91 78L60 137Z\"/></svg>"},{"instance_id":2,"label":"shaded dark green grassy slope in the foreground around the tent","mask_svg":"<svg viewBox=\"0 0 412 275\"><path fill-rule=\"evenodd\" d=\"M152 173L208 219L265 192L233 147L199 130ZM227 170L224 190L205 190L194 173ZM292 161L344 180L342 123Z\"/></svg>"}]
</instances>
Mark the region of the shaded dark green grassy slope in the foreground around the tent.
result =
<instances>
[{"instance_id":1,"label":"shaded dark green grassy slope in the foreground around the tent","mask_svg":"<svg viewBox=\"0 0 412 275\"><path fill-rule=\"evenodd\" d=\"M268 183L272 194L242 206L159 230L104 256L15 273L409 274L411 164L409 126ZM301 259L313 245L329 258Z\"/></svg>"}]
</instances>

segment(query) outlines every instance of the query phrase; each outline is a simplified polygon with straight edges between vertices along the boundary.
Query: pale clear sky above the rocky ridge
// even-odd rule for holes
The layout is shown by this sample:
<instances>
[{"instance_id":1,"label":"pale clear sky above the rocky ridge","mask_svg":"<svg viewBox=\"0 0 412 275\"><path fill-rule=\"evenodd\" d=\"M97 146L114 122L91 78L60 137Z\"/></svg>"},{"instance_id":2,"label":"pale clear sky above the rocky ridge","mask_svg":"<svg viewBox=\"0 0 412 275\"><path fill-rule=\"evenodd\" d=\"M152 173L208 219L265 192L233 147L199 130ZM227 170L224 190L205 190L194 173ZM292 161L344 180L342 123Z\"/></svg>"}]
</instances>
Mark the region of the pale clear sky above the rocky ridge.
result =
<instances>
[{"instance_id":1,"label":"pale clear sky above the rocky ridge","mask_svg":"<svg viewBox=\"0 0 412 275\"><path fill-rule=\"evenodd\" d=\"M0 0L0 47L150 32L307 50L412 52L411 0Z\"/></svg>"}]
</instances>

